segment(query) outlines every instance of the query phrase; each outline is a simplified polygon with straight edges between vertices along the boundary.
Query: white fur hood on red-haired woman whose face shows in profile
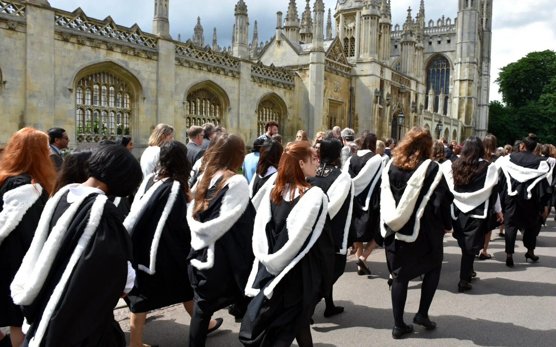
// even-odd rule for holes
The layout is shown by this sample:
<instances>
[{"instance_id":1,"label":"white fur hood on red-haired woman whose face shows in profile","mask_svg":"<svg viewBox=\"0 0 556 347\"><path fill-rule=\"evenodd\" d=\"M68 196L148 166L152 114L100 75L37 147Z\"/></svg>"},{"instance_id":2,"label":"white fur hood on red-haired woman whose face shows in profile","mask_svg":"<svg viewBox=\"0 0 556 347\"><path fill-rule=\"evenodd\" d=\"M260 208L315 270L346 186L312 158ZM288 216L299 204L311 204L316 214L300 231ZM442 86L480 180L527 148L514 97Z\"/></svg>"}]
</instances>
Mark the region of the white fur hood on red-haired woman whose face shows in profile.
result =
<instances>
[{"instance_id":1,"label":"white fur hood on red-haired woman whose face shows in profile","mask_svg":"<svg viewBox=\"0 0 556 347\"><path fill-rule=\"evenodd\" d=\"M320 237L322 229L324 228L324 223L326 222L326 215L328 214L328 198L326 194L322 192L322 189L319 187L312 187L307 190L286 219L289 239L281 249L273 254L269 254L269 243L266 238L266 224L268 224L272 218L270 209L271 192L272 189L269 189L265 193L259 211L255 217L253 233L255 263L245 289L245 294L247 296L255 296L260 291L259 289L252 288L255 283L260 262L265 265L266 270L269 271L270 274L275 275L275 278L272 279L264 289L265 296L271 298L272 292L276 285L280 283L280 280L309 252L316 240ZM321 208L322 212L319 215ZM315 226L314 229L313 226ZM301 247L305 244L309 235L309 242L305 249L301 250Z\"/></svg>"}]
</instances>

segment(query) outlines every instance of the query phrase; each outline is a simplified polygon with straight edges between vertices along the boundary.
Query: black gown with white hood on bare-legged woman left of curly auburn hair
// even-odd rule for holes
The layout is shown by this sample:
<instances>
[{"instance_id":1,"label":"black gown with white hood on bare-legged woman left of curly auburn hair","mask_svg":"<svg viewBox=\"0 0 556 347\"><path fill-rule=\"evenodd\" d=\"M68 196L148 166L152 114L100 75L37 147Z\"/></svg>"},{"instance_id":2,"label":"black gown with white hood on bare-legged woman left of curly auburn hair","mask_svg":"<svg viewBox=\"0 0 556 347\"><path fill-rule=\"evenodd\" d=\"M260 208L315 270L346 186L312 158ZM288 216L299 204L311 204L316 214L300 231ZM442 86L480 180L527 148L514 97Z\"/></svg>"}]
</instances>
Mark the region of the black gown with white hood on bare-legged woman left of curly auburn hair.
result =
<instances>
[{"instance_id":1,"label":"black gown with white hood on bare-legged woman left of curly auburn hair","mask_svg":"<svg viewBox=\"0 0 556 347\"><path fill-rule=\"evenodd\" d=\"M354 225L357 232L357 242L375 242L381 244L380 217L380 182L384 162L380 155L373 152L358 154L350 157L344 165L344 172L349 172L355 184L355 199L361 206L355 214ZM356 211L358 212L358 211Z\"/></svg>"}]
</instances>

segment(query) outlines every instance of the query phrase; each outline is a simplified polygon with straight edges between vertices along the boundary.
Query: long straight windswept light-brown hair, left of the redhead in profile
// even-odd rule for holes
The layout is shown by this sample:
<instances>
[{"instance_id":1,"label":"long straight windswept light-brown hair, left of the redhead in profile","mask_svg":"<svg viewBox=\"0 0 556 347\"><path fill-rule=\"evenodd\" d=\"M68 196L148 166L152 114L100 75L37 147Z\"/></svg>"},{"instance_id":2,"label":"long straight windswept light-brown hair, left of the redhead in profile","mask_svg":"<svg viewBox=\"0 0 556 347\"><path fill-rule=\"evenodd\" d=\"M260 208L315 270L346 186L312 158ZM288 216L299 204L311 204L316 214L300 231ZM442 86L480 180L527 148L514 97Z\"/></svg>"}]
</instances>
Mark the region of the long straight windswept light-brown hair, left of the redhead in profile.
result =
<instances>
[{"instance_id":1,"label":"long straight windswept light-brown hair, left of the redhead in profile","mask_svg":"<svg viewBox=\"0 0 556 347\"><path fill-rule=\"evenodd\" d=\"M213 139L214 140L214 139ZM212 141L212 140L211 140ZM209 156L203 159L206 162L205 173L195 190L195 205L193 205L193 218L198 212L203 212L209 207L210 200L214 199L226 182L237 174L245 158L245 142L240 135L222 133L215 141L214 148ZM218 185L216 193L207 197L207 190L211 179L222 172L222 180Z\"/></svg>"}]
</instances>

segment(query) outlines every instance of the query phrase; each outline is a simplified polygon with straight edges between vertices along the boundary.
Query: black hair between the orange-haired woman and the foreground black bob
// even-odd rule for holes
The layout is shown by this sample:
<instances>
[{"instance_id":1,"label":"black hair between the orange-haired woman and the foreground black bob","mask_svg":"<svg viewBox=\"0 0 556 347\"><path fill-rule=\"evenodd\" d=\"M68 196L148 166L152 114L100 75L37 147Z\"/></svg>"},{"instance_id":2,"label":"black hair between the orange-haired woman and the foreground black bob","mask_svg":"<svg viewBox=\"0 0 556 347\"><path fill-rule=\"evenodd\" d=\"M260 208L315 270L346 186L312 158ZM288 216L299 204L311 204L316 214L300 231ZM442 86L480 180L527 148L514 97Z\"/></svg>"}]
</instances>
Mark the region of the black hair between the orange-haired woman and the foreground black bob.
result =
<instances>
[{"instance_id":1,"label":"black hair between the orange-haired woman and the foreground black bob","mask_svg":"<svg viewBox=\"0 0 556 347\"><path fill-rule=\"evenodd\" d=\"M86 172L87 160L95 153L96 148L92 146L77 147L66 155L62 169L58 174L54 193L72 183L83 183L89 179Z\"/></svg>"}]
</instances>

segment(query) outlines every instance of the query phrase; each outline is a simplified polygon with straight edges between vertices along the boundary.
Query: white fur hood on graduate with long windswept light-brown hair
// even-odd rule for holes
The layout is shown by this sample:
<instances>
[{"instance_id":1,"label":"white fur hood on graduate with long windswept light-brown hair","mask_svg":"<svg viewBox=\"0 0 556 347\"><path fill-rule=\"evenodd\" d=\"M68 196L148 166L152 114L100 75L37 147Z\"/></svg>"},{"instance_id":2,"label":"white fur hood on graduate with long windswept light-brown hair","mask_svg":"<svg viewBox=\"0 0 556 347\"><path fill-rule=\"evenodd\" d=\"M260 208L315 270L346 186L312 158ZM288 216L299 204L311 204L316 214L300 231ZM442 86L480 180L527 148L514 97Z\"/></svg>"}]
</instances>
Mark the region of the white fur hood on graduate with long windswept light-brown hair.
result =
<instances>
[{"instance_id":1,"label":"white fur hood on graduate with long windswept light-brown hair","mask_svg":"<svg viewBox=\"0 0 556 347\"><path fill-rule=\"evenodd\" d=\"M187 210L187 223L191 229L191 248L195 250L209 248L207 263L201 263L197 259L191 260L191 265L200 270L212 268L214 243L234 226L249 205L249 185L245 177L235 175L227 180L226 186L228 190L222 198L219 217L207 222L199 222L193 216L193 208ZM195 200L191 202L191 206L195 206Z\"/></svg>"}]
</instances>

